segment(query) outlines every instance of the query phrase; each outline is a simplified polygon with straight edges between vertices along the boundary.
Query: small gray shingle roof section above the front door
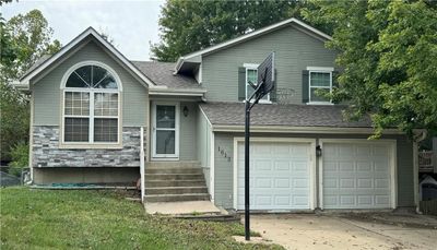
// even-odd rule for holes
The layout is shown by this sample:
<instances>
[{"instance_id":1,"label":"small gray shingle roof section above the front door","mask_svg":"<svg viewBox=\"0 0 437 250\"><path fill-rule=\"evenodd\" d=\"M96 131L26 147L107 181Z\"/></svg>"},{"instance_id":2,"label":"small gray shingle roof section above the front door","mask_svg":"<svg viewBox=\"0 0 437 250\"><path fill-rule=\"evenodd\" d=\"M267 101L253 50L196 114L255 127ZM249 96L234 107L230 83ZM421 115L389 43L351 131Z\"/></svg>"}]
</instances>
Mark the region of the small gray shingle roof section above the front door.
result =
<instances>
[{"instance_id":1,"label":"small gray shingle roof section above the front door","mask_svg":"<svg viewBox=\"0 0 437 250\"><path fill-rule=\"evenodd\" d=\"M156 85L170 88L202 88L193 78L174 74L175 63L155 61L131 61L145 76Z\"/></svg>"}]
</instances>

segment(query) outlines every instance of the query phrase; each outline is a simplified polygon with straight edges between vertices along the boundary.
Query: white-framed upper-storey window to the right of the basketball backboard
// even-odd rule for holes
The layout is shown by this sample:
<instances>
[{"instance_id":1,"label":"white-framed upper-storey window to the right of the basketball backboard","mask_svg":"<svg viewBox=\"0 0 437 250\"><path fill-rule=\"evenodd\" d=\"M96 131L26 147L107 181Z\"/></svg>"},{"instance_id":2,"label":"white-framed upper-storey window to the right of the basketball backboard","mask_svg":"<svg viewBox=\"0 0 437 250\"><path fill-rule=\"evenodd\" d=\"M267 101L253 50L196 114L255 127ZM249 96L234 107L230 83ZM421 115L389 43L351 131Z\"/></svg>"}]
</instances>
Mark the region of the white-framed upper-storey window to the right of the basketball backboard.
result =
<instances>
[{"instance_id":1,"label":"white-framed upper-storey window to the right of the basketball backboard","mask_svg":"<svg viewBox=\"0 0 437 250\"><path fill-rule=\"evenodd\" d=\"M308 67L309 82L309 103L310 104L332 104L329 98L318 95L320 92L332 92L333 68Z\"/></svg>"}]
</instances>

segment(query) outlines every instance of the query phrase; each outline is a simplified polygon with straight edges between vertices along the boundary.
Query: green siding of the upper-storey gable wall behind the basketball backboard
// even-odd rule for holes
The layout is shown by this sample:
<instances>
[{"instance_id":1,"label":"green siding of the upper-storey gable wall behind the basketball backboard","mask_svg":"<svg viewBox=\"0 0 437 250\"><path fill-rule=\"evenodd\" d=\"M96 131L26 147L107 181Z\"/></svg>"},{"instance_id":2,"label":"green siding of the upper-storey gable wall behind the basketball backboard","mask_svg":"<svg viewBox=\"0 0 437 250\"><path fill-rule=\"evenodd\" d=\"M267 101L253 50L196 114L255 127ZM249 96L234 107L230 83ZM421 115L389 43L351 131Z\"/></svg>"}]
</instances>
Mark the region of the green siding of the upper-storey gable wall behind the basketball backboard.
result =
<instances>
[{"instance_id":1,"label":"green siding of the upper-storey gable wall behind the basketball backboard","mask_svg":"<svg viewBox=\"0 0 437 250\"><path fill-rule=\"evenodd\" d=\"M287 26L252 40L204 56L202 84L209 102L238 100L238 68L260 63L275 51L279 98L281 90L293 92L287 103L302 104L302 71L306 67L334 67L335 52L323 41Z\"/></svg>"}]
</instances>

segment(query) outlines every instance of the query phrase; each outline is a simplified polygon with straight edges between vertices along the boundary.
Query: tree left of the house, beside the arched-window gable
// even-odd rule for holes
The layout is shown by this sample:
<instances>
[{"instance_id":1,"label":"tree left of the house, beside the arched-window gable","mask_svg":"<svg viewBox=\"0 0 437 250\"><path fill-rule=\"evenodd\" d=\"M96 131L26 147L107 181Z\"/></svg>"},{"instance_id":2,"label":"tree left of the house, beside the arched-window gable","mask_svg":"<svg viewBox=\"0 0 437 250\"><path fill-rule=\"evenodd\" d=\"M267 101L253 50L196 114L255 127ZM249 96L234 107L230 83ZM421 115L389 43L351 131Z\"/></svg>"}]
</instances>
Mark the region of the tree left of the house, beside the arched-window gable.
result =
<instances>
[{"instance_id":1,"label":"tree left of the house, beside the arched-window gable","mask_svg":"<svg viewBox=\"0 0 437 250\"><path fill-rule=\"evenodd\" d=\"M15 145L27 142L29 124L28 97L11 83L43 55L58 51L60 43L51 41L52 29L38 10L8 22L0 17L0 156L1 160L8 160Z\"/></svg>"}]
</instances>

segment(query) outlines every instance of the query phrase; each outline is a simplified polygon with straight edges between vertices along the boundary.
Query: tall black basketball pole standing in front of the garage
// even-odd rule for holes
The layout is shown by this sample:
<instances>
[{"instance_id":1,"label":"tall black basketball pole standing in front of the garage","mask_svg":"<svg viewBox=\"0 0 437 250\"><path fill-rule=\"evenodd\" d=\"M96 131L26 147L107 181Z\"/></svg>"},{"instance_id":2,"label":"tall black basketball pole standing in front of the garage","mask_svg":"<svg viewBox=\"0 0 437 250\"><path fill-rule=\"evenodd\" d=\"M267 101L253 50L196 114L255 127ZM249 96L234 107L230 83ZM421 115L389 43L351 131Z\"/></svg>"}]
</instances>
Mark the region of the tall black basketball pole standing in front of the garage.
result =
<instances>
[{"instance_id":1,"label":"tall black basketball pole standing in front of the garage","mask_svg":"<svg viewBox=\"0 0 437 250\"><path fill-rule=\"evenodd\" d=\"M250 98L246 100L245 121L245 237L250 240L250 205L249 205L249 138L250 138Z\"/></svg>"}]
</instances>

